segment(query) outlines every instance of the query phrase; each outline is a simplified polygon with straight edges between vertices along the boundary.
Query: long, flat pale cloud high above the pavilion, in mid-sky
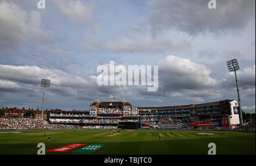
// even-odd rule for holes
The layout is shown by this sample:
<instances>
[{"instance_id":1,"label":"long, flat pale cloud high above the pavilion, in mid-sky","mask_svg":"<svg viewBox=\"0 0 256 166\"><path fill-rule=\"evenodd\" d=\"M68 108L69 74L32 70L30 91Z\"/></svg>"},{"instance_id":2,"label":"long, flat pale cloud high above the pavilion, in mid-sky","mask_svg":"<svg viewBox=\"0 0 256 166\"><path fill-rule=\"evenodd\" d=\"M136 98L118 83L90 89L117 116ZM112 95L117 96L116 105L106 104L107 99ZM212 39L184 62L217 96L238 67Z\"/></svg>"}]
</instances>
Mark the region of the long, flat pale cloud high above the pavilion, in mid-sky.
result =
<instances>
[{"instance_id":1,"label":"long, flat pale cloud high above the pavilion, in mid-sky","mask_svg":"<svg viewBox=\"0 0 256 166\"><path fill-rule=\"evenodd\" d=\"M80 44L83 51L104 50L113 53L165 53L171 51L188 51L190 42L176 37L167 37L164 34L151 36L150 34L137 34L134 38L125 37L119 40L109 40L101 43L98 41Z\"/></svg>"}]
</instances>

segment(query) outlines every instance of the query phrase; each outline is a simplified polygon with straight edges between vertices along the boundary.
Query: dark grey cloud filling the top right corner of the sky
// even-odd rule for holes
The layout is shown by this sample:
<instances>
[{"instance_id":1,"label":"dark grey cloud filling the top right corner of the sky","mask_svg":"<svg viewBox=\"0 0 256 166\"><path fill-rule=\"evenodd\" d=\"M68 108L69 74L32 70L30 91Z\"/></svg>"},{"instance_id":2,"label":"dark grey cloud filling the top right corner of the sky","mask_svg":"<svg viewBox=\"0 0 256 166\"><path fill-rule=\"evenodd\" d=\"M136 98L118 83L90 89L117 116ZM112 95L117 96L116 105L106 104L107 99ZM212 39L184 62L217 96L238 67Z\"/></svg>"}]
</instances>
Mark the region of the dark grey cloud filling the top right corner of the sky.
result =
<instances>
[{"instance_id":1,"label":"dark grey cloud filling the top right corner of the sky","mask_svg":"<svg viewBox=\"0 0 256 166\"><path fill-rule=\"evenodd\" d=\"M254 0L217 0L217 9L208 8L208 0L151 0L152 31L175 29L191 35L210 32L234 32L255 19Z\"/></svg>"}]
</instances>

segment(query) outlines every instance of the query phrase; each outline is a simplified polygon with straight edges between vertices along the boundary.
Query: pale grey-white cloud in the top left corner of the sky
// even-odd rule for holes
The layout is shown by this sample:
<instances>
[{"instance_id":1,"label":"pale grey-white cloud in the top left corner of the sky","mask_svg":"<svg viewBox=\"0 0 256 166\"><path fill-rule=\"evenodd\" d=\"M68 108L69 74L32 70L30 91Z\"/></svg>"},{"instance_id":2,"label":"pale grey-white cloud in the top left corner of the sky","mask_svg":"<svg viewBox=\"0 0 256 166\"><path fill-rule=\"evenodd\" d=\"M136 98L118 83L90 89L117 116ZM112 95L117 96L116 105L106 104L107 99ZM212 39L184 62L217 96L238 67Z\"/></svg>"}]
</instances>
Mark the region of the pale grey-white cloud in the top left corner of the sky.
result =
<instances>
[{"instance_id":1,"label":"pale grey-white cloud in the top left corner of the sky","mask_svg":"<svg viewBox=\"0 0 256 166\"><path fill-rule=\"evenodd\" d=\"M38 11L27 11L14 2L0 2L0 49L16 49L28 39L37 42L53 42L54 36L40 28L42 23Z\"/></svg>"}]
</instances>

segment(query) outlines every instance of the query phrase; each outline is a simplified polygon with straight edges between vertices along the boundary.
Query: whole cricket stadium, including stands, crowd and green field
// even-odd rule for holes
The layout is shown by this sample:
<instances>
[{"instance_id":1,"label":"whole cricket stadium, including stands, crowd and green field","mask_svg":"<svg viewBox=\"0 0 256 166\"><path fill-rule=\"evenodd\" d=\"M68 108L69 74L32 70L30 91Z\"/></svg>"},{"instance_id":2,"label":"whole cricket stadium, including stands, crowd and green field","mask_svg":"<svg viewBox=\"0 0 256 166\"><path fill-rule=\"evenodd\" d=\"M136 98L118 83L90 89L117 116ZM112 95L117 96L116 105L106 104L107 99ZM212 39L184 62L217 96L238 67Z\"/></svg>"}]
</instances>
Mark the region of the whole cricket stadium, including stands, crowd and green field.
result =
<instances>
[{"instance_id":1,"label":"whole cricket stadium, including stands, crowd and green field","mask_svg":"<svg viewBox=\"0 0 256 166\"><path fill-rule=\"evenodd\" d=\"M229 99L165 107L97 100L89 111L44 111L44 119L39 110L6 108L0 153L35 154L45 143L46 154L207 154L215 143L217 154L255 154L255 122L241 126L237 107ZM27 111L35 118L22 118Z\"/></svg>"}]
</instances>

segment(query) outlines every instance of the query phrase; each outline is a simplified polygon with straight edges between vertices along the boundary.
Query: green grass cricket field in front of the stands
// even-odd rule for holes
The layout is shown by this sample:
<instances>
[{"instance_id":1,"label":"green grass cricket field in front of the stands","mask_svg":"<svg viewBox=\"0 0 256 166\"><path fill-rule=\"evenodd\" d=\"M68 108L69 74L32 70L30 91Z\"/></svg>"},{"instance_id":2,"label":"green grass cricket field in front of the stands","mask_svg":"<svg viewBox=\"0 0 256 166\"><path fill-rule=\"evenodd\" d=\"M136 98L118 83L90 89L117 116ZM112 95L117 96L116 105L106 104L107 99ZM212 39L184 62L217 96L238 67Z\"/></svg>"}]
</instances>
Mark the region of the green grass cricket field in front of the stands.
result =
<instances>
[{"instance_id":1,"label":"green grass cricket field in front of the stands","mask_svg":"<svg viewBox=\"0 0 256 166\"><path fill-rule=\"evenodd\" d=\"M117 130L115 130L117 131ZM217 155L251 154L255 155L255 134L220 131L170 131L134 130L121 131L119 135L109 136L113 130L47 130L20 131L19 134L1 134L0 155L37 154L38 143L45 143L46 150L67 146L72 143L105 144L94 153L74 153L72 151L46 152L46 154L69 155L207 155L208 144L216 144ZM46 132L51 140L43 138ZM216 135L198 135L207 132ZM159 134L161 139L159 140ZM97 139L100 135L100 139ZM75 150L73 150L75 151Z\"/></svg>"}]
</instances>

